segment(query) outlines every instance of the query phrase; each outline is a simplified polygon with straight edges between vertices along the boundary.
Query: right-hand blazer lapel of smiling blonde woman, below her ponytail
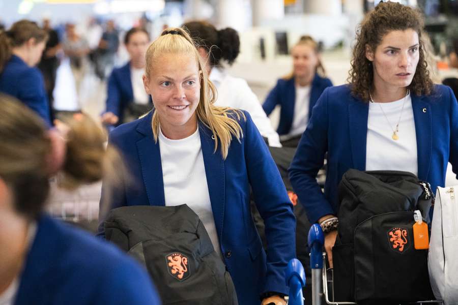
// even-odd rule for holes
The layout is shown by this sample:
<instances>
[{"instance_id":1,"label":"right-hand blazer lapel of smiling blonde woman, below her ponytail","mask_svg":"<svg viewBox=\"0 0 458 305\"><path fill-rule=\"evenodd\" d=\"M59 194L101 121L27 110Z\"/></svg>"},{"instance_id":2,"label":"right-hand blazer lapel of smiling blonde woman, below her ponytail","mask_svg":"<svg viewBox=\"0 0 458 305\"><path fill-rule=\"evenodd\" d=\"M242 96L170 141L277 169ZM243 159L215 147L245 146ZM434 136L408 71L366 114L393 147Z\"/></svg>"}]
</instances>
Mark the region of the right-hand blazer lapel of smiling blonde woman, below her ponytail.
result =
<instances>
[{"instance_id":1,"label":"right-hand blazer lapel of smiling blonde woman, below her ponytail","mask_svg":"<svg viewBox=\"0 0 458 305\"><path fill-rule=\"evenodd\" d=\"M224 161L221 156L219 145L216 152L213 152L215 140L212 138L212 132L203 124L199 124L199 135L201 136L202 156L204 157L208 193L210 195L216 230L218 231L219 240L221 242L226 196Z\"/></svg>"}]
</instances>

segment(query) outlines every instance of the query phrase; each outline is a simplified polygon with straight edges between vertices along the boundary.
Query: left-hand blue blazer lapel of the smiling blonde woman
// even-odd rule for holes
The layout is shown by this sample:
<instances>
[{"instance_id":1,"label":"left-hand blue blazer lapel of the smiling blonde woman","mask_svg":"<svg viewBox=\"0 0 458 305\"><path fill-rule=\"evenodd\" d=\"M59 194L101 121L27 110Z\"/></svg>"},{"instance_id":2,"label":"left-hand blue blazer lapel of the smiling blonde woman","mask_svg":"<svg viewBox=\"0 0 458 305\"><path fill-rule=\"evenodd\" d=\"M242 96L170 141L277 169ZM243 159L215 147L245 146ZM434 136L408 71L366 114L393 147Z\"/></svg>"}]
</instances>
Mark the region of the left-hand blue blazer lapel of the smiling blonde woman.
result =
<instances>
[{"instance_id":1,"label":"left-hand blue blazer lapel of the smiling blonde woman","mask_svg":"<svg viewBox=\"0 0 458 305\"><path fill-rule=\"evenodd\" d=\"M165 205L164 181L159 141L155 143L151 120L153 111L141 118L137 131L144 138L137 141L138 158L140 159L143 182L150 205Z\"/></svg>"}]
</instances>

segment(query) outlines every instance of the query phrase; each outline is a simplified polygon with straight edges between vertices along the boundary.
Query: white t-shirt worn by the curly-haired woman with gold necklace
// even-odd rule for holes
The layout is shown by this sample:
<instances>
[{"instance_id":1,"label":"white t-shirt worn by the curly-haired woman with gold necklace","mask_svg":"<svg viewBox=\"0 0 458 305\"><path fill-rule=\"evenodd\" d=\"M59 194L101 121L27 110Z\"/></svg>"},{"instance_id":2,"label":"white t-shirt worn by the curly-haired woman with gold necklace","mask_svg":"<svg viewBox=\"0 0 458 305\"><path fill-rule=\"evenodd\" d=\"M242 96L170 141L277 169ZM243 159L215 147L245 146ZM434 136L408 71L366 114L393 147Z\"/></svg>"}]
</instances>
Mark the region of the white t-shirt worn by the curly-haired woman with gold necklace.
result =
<instances>
[{"instance_id":1,"label":"white t-shirt worn by the curly-haired woman with gold necklace","mask_svg":"<svg viewBox=\"0 0 458 305\"><path fill-rule=\"evenodd\" d=\"M410 94L400 117L399 138L392 138L403 103L404 98L391 103L369 103L366 170L400 170L418 174L417 138Z\"/></svg>"}]
</instances>

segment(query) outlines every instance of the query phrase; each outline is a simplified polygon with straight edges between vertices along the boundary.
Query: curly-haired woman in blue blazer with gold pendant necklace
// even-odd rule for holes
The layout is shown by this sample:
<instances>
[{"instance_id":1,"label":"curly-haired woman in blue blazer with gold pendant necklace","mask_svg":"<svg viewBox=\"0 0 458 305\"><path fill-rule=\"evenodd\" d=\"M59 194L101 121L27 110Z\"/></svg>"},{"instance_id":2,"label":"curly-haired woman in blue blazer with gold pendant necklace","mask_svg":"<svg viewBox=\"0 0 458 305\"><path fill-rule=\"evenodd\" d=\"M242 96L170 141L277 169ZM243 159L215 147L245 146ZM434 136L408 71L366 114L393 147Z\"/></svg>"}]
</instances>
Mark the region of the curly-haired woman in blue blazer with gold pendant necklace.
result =
<instances>
[{"instance_id":1,"label":"curly-haired woman in blue blazer with gold pendant necklace","mask_svg":"<svg viewBox=\"0 0 458 305\"><path fill-rule=\"evenodd\" d=\"M430 79L414 9L380 3L357 31L350 84L325 90L289 169L311 223L325 231L332 265L339 201L350 168L416 174L433 190L444 186L447 163L458 172L458 105L449 87ZM327 154L324 193L316 175Z\"/></svg>"}]
</instances>

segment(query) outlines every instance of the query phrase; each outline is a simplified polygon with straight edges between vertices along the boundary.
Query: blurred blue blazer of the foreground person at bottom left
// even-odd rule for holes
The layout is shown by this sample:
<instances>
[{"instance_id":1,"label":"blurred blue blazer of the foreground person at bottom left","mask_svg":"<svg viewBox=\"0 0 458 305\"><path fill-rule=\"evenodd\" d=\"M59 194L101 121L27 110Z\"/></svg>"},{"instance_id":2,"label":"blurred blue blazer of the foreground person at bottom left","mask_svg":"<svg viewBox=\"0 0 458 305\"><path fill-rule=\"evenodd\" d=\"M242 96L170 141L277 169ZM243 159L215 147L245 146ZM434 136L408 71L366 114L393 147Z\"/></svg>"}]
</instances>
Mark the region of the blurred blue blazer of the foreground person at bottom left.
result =
<instances>
[{"instance_id":1,"label":"blurred blue blazer of the foreground person at bottom left","mask_svg":"<svg viewBox=\"0 0 458 305\"><path fill-rule=\"evenodd\" d=\"M108 242L43 216L15 305L159 305L147 271Z\"/></svg>"}]
</instances>

